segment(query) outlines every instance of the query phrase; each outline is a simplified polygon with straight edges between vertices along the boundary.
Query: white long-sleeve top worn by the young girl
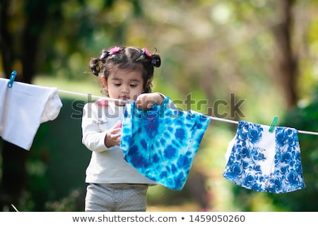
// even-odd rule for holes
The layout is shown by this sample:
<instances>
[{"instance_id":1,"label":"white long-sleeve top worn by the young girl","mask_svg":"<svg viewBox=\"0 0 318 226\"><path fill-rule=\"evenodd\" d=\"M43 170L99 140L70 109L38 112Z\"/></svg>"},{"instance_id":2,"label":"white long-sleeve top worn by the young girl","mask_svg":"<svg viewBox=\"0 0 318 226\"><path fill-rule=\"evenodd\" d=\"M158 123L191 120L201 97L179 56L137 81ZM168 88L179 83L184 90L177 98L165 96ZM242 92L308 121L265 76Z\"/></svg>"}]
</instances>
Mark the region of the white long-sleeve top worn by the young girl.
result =
<instances>
[{"instance_id":1,"label":"white long-sleeve top worn by the young girl","mask_svg":"<svg viewBox=\"0 0 318 226\"><path fill-rule=\"evenodd\" d=\"M95 184L155 184L124 160L119 146L107 148L105 136L108 130L124 119L125 107L113 102L98 100L83 107L82 142L92 151L86 169L86 183Z\"/></svg>"}]
</instances>

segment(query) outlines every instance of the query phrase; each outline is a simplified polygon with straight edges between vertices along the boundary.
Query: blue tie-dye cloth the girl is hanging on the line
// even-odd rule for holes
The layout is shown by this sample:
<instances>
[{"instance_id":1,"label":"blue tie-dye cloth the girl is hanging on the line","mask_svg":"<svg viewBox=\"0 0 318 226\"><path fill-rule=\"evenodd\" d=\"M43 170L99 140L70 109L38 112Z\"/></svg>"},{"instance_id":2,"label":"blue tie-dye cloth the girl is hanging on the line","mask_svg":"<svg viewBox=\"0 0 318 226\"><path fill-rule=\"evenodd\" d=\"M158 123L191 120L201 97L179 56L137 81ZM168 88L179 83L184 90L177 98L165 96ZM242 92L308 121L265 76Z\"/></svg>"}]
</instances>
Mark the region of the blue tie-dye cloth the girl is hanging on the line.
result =
<instances>
[{"instance_id":1,"label":"blue tie-dye cloth the girl is hanging on the line","mask_svg":"<svg viewBox=\"0 0 318 226\"><path fill-rule=\"evenodd\" d=\"M181 190L204 136L209 117L163 104L150 110L126 105L120 147L124 159L154 182Z\"/></svg>"}]
</instances>

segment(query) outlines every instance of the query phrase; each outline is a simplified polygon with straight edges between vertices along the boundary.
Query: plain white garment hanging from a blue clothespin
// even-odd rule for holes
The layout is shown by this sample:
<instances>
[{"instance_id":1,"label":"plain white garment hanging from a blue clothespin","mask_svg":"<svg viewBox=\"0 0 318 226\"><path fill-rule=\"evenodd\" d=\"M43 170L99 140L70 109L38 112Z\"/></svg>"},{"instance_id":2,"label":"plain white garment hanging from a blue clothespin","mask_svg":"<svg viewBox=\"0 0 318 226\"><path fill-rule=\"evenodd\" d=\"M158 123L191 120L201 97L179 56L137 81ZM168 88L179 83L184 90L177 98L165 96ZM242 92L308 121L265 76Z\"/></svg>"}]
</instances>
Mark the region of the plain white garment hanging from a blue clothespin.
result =
<instances>
[{"instance_id":1,"label":"plain white garment hanging from a blue clothespin","mask_svg":"<svg viewBox=\"0 0 318 226\"><path fill-rule=\"evenodd\" d=\"M40 124L52 121L62 107L57 88L47 88L0 78L0 136L30 150Z\"/></svg>"}]
</instances>

